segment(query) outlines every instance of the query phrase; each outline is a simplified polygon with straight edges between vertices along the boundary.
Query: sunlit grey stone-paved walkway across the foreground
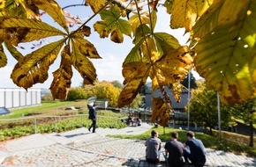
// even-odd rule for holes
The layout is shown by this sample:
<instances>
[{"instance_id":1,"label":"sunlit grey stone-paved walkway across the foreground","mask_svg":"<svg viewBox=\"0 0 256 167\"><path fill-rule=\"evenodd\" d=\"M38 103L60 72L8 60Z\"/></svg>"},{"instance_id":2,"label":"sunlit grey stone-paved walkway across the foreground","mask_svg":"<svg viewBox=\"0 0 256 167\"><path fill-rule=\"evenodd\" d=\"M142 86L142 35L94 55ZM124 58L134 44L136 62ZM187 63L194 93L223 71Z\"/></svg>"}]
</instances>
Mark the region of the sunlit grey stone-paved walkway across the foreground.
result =
<instances>
[{"instance_id":1,"label":"sunlit grey stone-paved walkway across the foreground","mask_svg":"<svg viewBox=\"0 0 256 167\"><path fill-rule=\"evenodd\" d=\"M32 134L1 143L0 166L166 166L163 156L161 156L162 163L155 165L145 161L145 142L106 136L107 134L141 134L150 128L151 126L145 123L141 127L123 129L98 128L97 133L94 134L89 133L85 127L60 134ZM207 166L255 167L256 159L207 149Z\"/></svg>"}]
</instances>

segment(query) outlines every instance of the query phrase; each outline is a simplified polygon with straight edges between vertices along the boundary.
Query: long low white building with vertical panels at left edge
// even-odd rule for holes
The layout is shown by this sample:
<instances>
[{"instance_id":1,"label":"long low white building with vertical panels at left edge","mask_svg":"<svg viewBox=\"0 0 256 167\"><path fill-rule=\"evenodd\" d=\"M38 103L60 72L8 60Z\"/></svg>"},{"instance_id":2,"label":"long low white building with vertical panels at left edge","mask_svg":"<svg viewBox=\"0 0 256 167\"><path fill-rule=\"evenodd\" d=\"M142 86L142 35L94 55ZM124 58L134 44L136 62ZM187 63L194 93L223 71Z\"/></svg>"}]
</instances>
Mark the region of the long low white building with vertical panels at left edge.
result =
<instances>
[{"instance_id":1,"label":"long low white building with vertical panels at left edge","mask_svg":"<svg viewBox=\"0 0 256 167\"><path fill-rule=\"evenodd\" d=\"M0 88L0 107L41 105L41 89Z\"/></svg>"}]
</instances>

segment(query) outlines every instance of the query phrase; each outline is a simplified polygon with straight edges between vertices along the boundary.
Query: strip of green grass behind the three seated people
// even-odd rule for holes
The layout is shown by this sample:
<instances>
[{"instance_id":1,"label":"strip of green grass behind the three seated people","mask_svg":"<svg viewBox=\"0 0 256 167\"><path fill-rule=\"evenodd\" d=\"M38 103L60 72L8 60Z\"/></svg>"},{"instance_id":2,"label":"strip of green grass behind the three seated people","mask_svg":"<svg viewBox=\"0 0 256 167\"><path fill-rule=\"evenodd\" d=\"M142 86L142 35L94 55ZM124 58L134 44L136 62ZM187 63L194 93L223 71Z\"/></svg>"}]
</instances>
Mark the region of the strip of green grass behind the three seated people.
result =
<instances>
[{"instance_id":1,"label":"strip of green grass behind the three seated people","mask_svg":"<svg viewBox=\"0 0 256 167\"><path fill-rule=\"evenodd\" d=\"M186 141L186 132L185 130L181 129L174 129L170 127L153 127L154 130L156 130L159 133L159 138L162 140L162 142L167 142L170 140L170 132L177 131L179 135L179 141L184 143ZM134 139L134 140L142 140L146 141L149 136L151 136L151 130L147 131L144 134L139 135L109 135L110 137L117 137L117 138L123 138L123 139ZM233 152L235 154L239 155L245 155L245 156L254 156L256 157L256 148L251 148L249 146L245 146L243 144L239 144L237 142L226 142L224 140L219 141L218 138L208 135L208 134L202 134L202 133L195 133L196 138L200 139L206 148L211 149L218 149L223 150L226 152Z\"/></svg>"}]
</instances>

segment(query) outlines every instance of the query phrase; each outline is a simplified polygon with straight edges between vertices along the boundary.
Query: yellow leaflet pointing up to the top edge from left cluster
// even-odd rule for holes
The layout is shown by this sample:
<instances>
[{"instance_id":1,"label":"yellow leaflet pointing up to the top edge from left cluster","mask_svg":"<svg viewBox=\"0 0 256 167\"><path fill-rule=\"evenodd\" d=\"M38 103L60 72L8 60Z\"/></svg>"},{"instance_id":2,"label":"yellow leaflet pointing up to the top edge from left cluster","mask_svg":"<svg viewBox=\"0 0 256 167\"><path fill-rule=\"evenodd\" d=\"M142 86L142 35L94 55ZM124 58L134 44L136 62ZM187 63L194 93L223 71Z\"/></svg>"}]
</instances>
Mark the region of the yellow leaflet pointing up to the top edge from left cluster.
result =
<instances>
[{"instance_id":1,"label":"yellow leaflet pointing up to the top edge from left cluster","mask_svg":"<svg viewBox=\"0 0 256 167\"><path fill-rule=\"evenodd\" d=\"M33 4L36 5L39 9L42 11L45 11L49 14L51 18L53 18L56 23L61 25L64 30L68 33L69 28L66 24L65 18L64 18L64 11L62 8L56 3L54 0L32 0Z\"/></svg>"}]
</instances>

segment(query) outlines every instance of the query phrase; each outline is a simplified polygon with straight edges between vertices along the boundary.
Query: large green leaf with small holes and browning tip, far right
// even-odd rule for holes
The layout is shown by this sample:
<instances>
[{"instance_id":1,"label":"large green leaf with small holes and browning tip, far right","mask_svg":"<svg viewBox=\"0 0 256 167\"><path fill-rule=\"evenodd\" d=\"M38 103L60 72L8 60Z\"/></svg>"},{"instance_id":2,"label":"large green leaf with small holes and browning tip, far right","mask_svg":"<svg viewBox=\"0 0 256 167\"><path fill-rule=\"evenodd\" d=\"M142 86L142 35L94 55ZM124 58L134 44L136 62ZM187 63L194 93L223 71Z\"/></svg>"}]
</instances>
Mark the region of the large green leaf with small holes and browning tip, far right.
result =
<instances>
[{"instance_id":1,"label":"large green leaf with small holes and browning tip, far right","mask_svg":"<svg viewBox=\"0 0 256 167\"><path fill-rule=\"evenodd\" d=\"M251 19L256 24L256 16L253 17ZM206 35L195 47L197 71L206 78L207 86L219 91L224 104L241 103L255 90L249 69L255 37L252 42L242 35L254 33L255 29L241 24L234 25L236 28L230 24L219 26L215 33Z\"/></svg>"}]
</instances>

